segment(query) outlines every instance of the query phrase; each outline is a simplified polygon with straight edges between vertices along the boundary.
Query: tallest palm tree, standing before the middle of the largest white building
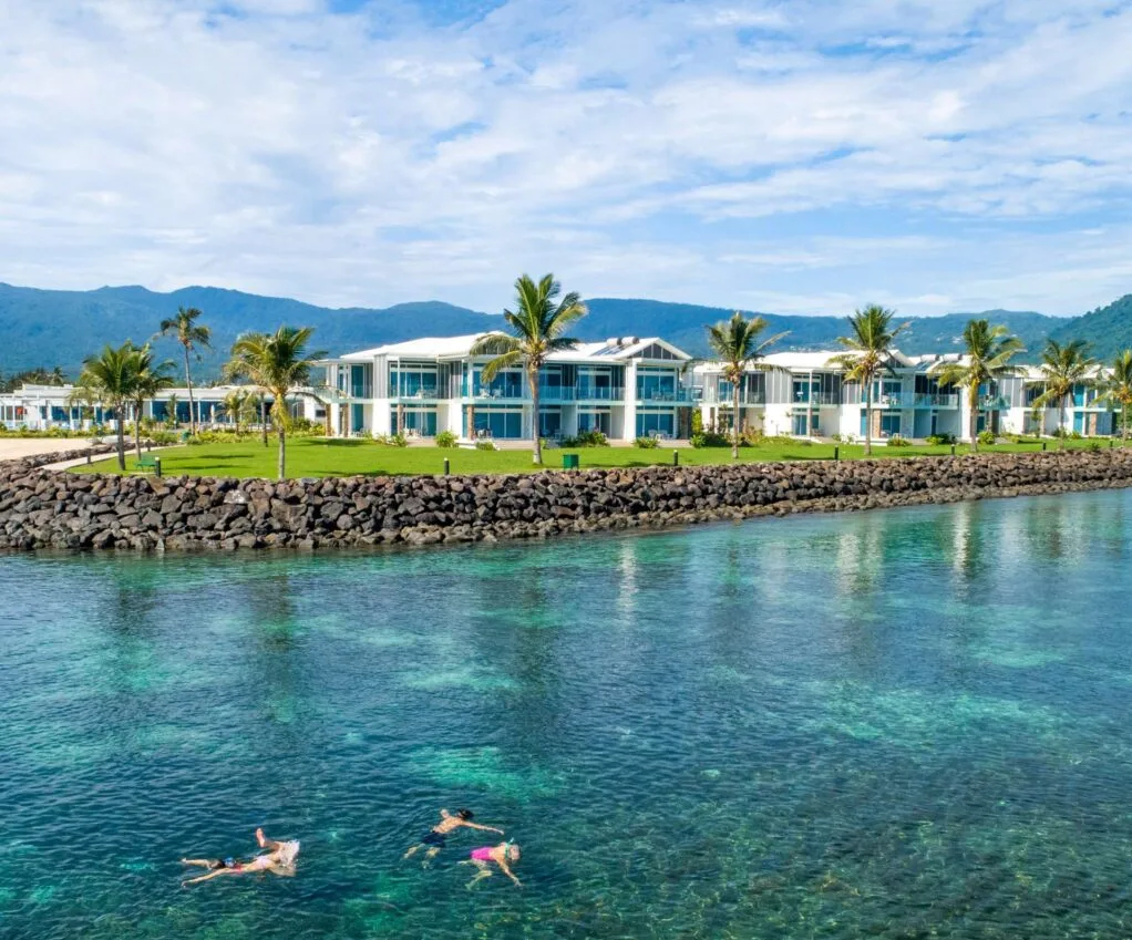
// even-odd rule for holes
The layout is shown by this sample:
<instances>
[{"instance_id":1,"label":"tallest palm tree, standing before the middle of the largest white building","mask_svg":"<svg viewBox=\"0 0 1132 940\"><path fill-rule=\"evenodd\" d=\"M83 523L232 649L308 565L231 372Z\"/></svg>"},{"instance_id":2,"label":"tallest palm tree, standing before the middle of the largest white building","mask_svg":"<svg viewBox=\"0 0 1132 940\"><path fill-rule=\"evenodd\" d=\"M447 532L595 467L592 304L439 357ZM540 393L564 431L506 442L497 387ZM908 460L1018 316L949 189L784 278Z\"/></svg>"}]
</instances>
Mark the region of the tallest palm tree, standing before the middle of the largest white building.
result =
<instances>
[{"instance_id":1,"label":"tallest palm tree, standing before the middle of the largest white building","mask_svg":"<svg viewBox=\"0 0 1132 940\"><path fill-rule=\"evenodd\" d=\"M589 311L578 294L571 292L555 303L561 285L552 274L538 284L528 275L515 282L517 312L504 310L503 317L515 331L514 336L490 333L472 344L471 355L494 356L483 366L483 381L490 382L500 371L520 363L526 371L534 411L534 463L542 463L542 438L539 433L539 370L551 353L573 350L578 340L563 334ZM474 432L474 428L470 429Z\"/></svg>"}]
</instances>

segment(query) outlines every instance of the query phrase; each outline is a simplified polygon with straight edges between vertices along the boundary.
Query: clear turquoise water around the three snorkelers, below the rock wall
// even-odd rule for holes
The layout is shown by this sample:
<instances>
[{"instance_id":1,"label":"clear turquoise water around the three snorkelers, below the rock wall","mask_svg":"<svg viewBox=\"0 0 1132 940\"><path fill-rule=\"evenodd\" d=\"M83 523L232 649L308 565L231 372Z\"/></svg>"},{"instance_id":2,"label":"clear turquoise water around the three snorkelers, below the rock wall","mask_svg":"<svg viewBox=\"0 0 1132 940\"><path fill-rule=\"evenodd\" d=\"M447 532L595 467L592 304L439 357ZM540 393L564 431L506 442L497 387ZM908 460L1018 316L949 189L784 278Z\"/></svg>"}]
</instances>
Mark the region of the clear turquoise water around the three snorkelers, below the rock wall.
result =
<instances>
[{"instance_id":1,"label":"clear turquoise water around the three snorkelers, below the rock wall","mask_svg":"<svg viewBox=\"0 0 1132 940\"><path fill-rule=\"evenodd\" d=\"M1130 521L0 558L0 937L1129 935ZM401 860L460 805L522 889Z\"/></svg>"}]
</instances>

